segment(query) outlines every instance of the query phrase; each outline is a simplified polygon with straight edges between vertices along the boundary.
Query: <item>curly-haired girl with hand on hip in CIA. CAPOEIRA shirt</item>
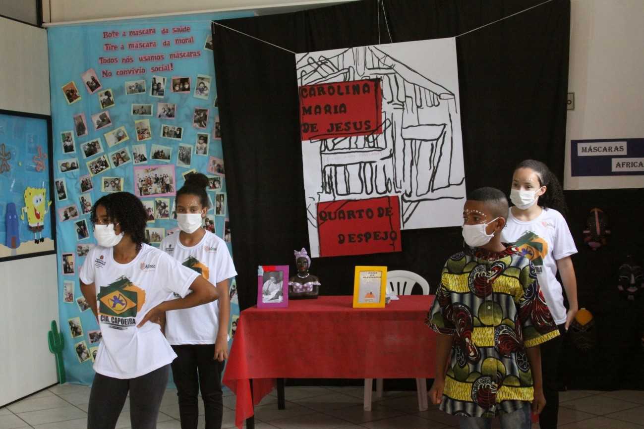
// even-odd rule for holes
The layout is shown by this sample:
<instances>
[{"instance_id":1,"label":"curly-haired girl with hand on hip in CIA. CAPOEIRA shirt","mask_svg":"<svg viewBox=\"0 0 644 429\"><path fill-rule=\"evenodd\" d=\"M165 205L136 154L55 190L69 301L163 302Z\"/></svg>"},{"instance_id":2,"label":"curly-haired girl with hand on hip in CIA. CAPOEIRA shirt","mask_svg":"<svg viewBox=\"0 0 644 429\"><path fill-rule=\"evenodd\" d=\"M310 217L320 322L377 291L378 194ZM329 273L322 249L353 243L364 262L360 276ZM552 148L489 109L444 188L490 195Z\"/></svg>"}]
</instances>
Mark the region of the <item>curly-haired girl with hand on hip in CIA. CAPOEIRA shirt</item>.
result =
<instances>
[{"instance_id":1,"label":"curly-haired girl with hand on hip in CIA. CAPOEIRA shirt","mask_svg":"<svg viewBox=\"0 0 644 429\"><path fill-rule=\"evenodd\" d=\"M103 196L91 209L98 246L88 253L79 278L102 340L89 428L113 429L128 392L131 427L156 427L169 364L176 357L158 322L166 311L218 298L203 277L146 244L146 221L146 209L129 192ZM173 293L182 298L171 299Z\"/></svg>"}]
</instances>

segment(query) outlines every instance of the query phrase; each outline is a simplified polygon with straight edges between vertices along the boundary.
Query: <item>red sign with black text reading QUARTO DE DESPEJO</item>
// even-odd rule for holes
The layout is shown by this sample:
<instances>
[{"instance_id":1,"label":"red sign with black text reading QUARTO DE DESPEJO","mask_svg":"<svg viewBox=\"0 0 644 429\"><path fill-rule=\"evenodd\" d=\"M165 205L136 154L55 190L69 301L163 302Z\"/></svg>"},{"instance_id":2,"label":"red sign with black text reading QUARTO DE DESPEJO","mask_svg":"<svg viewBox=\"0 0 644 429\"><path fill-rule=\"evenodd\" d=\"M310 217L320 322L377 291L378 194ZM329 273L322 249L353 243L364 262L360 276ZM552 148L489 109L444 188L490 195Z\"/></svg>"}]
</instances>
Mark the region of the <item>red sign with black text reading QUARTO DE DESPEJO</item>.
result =
<instances>
[{"instance_id":1,"label":"red sign with black text reading QUARTO DE DESPEJO","mask_svg":"<svg viewBox=\"0 0 644 429\"><path fill-rule=\"evenodd\" d=\"M317 203L320 256L402 251L398 196Z\"/></svg>"}]
</instances>

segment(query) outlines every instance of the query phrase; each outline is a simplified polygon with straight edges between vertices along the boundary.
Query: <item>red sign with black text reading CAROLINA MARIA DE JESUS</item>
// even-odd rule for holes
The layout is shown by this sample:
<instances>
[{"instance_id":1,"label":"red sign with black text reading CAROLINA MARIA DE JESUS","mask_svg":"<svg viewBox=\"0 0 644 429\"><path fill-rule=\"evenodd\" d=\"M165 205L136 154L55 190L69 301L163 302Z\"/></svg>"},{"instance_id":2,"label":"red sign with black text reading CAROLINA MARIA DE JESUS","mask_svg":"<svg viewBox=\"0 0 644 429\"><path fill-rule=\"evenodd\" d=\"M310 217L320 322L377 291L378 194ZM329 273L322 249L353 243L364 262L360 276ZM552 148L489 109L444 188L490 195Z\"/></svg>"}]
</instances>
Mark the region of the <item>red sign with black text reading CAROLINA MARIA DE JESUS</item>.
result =
<instances>
[{"instance_id":1,"label":"red sign with black text reading CAROLINA MARIA DE JESUS","mask_svg":"<svg viewBox=\"0 0 644 429\"><path fill-rule=\"evenodd\" d=\"M302 141L381 134L382 107L379 79L301 86Z\"/></svg>"}]
</instances>

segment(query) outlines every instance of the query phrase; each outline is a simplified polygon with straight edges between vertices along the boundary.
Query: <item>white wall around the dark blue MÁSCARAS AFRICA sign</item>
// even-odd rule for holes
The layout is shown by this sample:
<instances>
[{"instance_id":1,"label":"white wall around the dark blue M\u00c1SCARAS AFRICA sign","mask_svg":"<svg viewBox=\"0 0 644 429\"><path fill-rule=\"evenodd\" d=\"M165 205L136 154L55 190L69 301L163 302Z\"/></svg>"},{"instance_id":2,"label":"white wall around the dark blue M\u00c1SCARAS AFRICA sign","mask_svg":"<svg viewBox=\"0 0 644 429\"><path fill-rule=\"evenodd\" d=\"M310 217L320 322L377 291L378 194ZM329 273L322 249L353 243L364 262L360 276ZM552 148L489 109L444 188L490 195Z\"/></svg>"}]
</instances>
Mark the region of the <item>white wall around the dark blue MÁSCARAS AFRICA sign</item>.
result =
<instances>
[{"instance_id":1,"label":"white wall around the dark blue M\u00c1SCARAS AFRICA sign","mask_svg":"<svg viewBox=\"0 0 644 429\"><path fill-rule=\"evenodd\" d=\"M564 188L643 188L644 176L571 177L570 141L644 138L644 2L573 0Z\"/></svg>"}]
</instances>

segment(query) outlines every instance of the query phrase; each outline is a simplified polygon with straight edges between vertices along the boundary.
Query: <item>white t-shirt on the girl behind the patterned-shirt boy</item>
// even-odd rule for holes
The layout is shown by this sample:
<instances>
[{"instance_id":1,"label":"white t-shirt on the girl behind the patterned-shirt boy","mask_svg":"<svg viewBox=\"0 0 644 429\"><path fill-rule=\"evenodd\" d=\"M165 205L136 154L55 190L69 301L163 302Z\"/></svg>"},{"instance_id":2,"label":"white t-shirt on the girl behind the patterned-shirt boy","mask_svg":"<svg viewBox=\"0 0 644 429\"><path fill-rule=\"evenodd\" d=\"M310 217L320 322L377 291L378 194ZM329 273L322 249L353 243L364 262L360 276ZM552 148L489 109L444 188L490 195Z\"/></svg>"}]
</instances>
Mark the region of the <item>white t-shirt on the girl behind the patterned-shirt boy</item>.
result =
<instances>
[{"instance_id":1,"label":"white t-shirt on the girl behind the patterned-shirt boy","mask_svg":"<svg viewBox=\"0 0 644 429\"><path fill-rule=\"evenodd\" d=\"M577 248L562 214L553 208L544 208L536 219L523 222L514 217L510 208L501 241L515 244L532 261L554 322L564 324L564 293L556 279L556 261L577 253Z\"/></svg>"}]
</instances>

